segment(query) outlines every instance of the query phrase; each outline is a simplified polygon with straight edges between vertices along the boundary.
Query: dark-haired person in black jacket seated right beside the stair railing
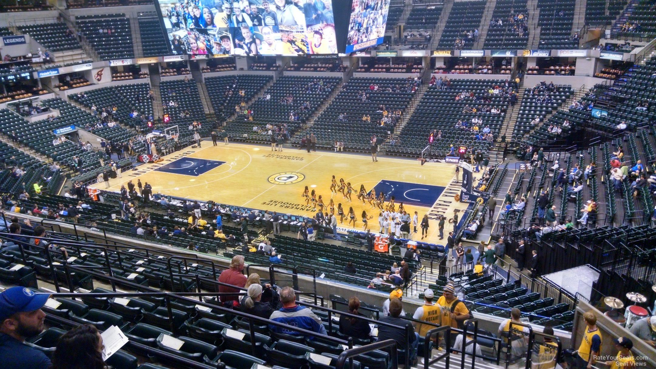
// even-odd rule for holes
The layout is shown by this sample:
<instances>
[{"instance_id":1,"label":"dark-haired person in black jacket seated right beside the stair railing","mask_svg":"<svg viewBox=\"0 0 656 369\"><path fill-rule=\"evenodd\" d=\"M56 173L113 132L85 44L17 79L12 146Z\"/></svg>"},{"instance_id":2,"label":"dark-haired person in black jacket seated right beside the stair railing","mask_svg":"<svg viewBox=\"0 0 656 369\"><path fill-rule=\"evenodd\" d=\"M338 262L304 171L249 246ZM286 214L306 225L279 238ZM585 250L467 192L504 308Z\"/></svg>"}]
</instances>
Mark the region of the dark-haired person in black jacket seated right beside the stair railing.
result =
<instances>
[{"instance_id":1,"label":"dark-haired person in black jacket seated right beside the stair railing","mask_svg":"<svg viewBox=\"0 0 656 369\"><path fill-rule=\"evenodd\" d=\"M400 349L409 349L409 360L411 364L417 365L417 347L419 345L419 334L415 332L412 324L405 319L401 319L399 316L403 313L403 304L401 300L394 299L390 301L390 315L385 315L380 317L379 321L393 324L396 327L391 327L388 325L379 324L378 326L378 340L394 340L396 341ZM409 339L406 339L405 328L406 326L411 327L411 334Z\"/></svg>"}]
</instances>

